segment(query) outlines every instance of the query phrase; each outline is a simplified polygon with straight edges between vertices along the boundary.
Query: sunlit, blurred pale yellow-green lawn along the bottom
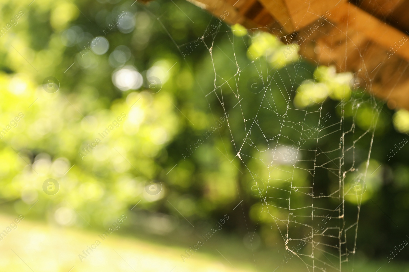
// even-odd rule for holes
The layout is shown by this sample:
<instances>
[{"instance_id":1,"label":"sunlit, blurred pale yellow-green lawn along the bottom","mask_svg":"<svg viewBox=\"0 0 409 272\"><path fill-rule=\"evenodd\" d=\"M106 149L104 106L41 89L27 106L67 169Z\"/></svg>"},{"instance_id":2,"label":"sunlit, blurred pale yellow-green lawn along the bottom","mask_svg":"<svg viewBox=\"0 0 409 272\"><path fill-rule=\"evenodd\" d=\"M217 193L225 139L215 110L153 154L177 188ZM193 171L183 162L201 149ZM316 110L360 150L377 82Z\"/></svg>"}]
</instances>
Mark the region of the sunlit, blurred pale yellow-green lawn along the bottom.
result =
<instances>
[{"instance_id":1,"label":"sunlit, blurred pale yellow-green lawn along the bottom","mask_svg":"<svg viewBox=\"0 0 409 272\"><path fill-rule=\"evenodd\" d=\"M15 217L0 215L1 230L14 219ZM61 228L24 219L17 229L0 241L0 271L273 272L277 267L277 272L307 271L301 263L283 266L281 248L257 250L253 259L240 239L231 239L223 234L209 239L192 257L182 262L180 255L189 246L171 246L170 244L175 243L169 241L178 240L178 237L150 239L144 236L142 239L114 232L81 262L78 255L96 239L101 240L98 237L101 233ZM361 257L356 259L362 260ZM354 270L350 263L349 268L344 268L343 271L360 272L375 272L378 268L379 272L409 271L409 265L405 263L397 265L396 262L386 261L355 263Z\"/></svg>"}]
</instances>

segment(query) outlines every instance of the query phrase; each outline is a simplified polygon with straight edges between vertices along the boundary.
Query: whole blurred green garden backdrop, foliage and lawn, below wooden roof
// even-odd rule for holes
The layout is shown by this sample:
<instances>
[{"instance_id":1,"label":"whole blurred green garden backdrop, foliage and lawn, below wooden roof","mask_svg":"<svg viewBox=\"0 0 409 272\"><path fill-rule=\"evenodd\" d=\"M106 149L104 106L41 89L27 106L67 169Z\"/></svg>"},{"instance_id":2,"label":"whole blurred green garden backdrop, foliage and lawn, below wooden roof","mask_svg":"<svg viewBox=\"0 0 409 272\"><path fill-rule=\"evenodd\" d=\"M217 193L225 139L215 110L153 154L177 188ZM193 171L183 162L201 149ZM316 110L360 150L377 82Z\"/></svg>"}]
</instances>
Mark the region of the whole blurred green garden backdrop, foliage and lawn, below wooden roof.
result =
<instances>
[{"instance_id":1,"label":"whole blurred green garden backdrop, foliage and lawn, below wooden roof","mask_svg":"<svg viewBox=\"0 0 409 272\"><path fill-rule=\"evenodd\" d=\"M339 271L283 199L351 226L342 271L409 271L409 112L355 74L184 0L0 5L1 271Z\"/></svg>"}]
</instances>

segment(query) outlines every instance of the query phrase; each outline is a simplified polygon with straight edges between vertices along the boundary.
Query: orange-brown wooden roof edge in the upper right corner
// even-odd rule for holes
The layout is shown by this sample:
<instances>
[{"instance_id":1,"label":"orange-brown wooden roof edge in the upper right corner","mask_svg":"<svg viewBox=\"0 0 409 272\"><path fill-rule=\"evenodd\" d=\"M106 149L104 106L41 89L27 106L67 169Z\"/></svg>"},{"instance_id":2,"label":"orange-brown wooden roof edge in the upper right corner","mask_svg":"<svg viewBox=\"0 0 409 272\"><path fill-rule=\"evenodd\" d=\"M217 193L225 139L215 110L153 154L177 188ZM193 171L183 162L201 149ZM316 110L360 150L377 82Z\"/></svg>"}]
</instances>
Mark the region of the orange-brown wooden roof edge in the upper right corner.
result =
<instances>
[{"instance_id":1,"label":"orange-brown wooden roof edge in the upper right corner","mask_svg":"<svg viewBox=\"0 0 409 272\"><path fill-rule=\"evenodd\" d=\"M225 22L261 28L301 55L352 71L390 108L409 109L409 0L189 0Z\"/></svg>"}]
</instances>

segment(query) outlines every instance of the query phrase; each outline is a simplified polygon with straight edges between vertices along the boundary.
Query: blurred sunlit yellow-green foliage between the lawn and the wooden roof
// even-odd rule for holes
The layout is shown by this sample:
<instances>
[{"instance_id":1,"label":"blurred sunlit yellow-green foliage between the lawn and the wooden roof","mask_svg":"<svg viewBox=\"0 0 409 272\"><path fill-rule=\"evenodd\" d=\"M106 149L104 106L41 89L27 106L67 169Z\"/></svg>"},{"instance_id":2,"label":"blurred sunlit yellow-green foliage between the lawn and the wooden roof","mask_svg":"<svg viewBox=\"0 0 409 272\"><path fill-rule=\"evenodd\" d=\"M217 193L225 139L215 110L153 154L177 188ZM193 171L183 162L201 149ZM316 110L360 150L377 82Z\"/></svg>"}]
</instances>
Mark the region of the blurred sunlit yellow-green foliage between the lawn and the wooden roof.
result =
<instances>
[{"instance_id":1,"label":"blurred sunlit yellow-green foliage between the lawn and the wooden roof","mask_svg":"<svg viewBox=\"0 0 409 272\"><path fill-rule=\"evenodd\" d=\"M285 45L271 34L252 33L239 25L231 31L222 24L184 59L184 46L216 20L185 1L153 1L145 6L116 0L7 0L1 7L0 21L6 27L14 15L24 12L0 37L0 128L7 130L0 141L0 197L8 207L24 213L39 200L32 209L38 218L86 227L87 222L103 226L138 203L132 212L166 213L184 224L183 217L197 222L218 219L244 199L245 218L251 219L252 229L261 225L265 243L271 243L278 237L270 228L271 215L279 217L279 211L263 210L260 196L254 194L254 177L261 183L271 176L290 178L290 166L273 167L265 151L271 144L266 139L280 133L279 117L294 100L297 108L320 109L333 116L326 126L338 124L342 117L344 131L365 134L353 154L362 164L346 177L346 183L353 184L368 166L366 195L359 200L347 197L346 203L351 212L356 212L357 202L364 203L360 229L365 232L358 232L362 248L369 255L383 253L384 233L403 234L404 229L396 229L369 200L399 226L409 223L401 216L409 208L408 147L390 160L387 157L405 135L393 129L393 113L374 104L380 102L366 93L351 92L351 74L305 62L297 45ZM123 11L127 14L123 24L111 29ZM103 32L107 27L108 33ZM104 35L108 51L88 52L88 43ZM144 84L121 91L112 79L116 72L124 72L121 69L128 76L140 73ZM59 82L55 93L45 91L49 76ZM159 92L151 87L151 76L160 79ZM267 95L247 88L252 77L267 82ZM341 109L337 105L343 100ZM407 112L396 114L395 123L402 124L398 130L407 132ZM227 116L213 132L216 121ZM295 111L291 116L292 122L305 122L309 128L320 119L303 120ZM254 119L257 126L247 138L246 125ZM101 137L106 128L108 136ZM198 139L202 143L196 147ZM96 147L84 151L96 142ZM334 134L320 148L338 144L339 135ZM192 145L195 148L190 149ZM241 160L236 156L239 150L245 154ZM369 150L373 159L366 162ZM49 178L60 185L52 196L43 192ZM312 181L301 169L292 178L297 186ZM148 193L151 179L162 184L157 195ZM324 174L315 178L326 194L332 190L329 181L334 180ZM306 199L297 201L301 206ZM229 228L244 231L246 223L237 219L229 222Z\"/></svg>"}]
</instances>

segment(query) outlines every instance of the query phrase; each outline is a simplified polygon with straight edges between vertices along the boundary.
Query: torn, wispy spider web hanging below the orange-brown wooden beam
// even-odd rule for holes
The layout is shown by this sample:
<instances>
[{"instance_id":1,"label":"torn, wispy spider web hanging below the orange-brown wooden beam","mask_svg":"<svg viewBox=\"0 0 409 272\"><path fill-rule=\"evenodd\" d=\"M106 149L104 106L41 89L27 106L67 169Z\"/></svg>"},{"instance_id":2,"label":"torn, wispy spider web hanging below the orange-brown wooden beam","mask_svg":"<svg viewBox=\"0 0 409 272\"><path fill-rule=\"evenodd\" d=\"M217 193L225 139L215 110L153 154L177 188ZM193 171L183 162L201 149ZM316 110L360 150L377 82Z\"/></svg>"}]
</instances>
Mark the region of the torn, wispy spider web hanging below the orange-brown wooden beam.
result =
<instances>
[{"instance_id":1,"label":"torn, wispy spider web hanging below the orange-brown wooden beam","mask_svg":"<svg viewBox=\"0 0 409 272\"><path fill-rule=\"evenodd\" d=\"M294 42L295 34L285 34L281 28L247 29L250 37L258 31L275 33L285 44ZM338 48L329 50L354 44L328 20L315 32L325 33L327 40L334 41L339 33L344 35ZM306 271L345 270L357 248L361 198L371 174L368 166L381 106L368 92L352 93L351 98L342 101L327 98L323 103L295 107L297 87L303 80L314 79L312 71L302 64L301 57L282 68L269 65L263 57L245 62L245 53L236 49L237 44L248 44L248 35L238 37L233 31L217 27L199 40L200 46L209 51L209 66L214 73L213 87L202 91L207 101L219 103L209 102L210 108L221 107L228 116L228 133L236 154L230 161L239 160L251 177L248 183L256 185L262 207L260 217L267 214L283 239L283 266L298 260ZM230 48L223 47L223 37ZM305 42L315 42L315 38L308 36ZM185 56L182 51L189 44L177 46ZM234 69L225 69L227 64L220 63L218 56L223 55ZM307 61L315 67L320 62L310 58ZM338 70L343 71L343 67ZM249 93L248 75L257 75L263 85L254 100L250 96L253 93ZM370 88L368 82L366 89ZM355 117L362 105L375 113L367 129L357 129ZM346 203L348 196L355 201Z\"/></svg>"}]
</instances>

